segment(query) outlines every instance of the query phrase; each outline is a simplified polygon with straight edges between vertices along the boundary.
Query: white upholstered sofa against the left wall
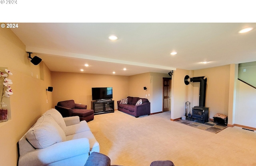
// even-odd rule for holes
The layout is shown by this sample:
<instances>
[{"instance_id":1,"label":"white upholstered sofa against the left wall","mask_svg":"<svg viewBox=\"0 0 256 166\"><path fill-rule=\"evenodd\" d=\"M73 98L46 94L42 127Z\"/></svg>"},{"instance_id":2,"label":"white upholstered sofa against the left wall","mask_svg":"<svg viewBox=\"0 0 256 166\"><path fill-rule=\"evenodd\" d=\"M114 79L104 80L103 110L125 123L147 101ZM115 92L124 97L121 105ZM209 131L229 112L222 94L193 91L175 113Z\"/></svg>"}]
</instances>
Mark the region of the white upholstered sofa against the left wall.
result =
<instances>
[{"instance_id":1,"label":"white upholstered sofa against the left wall","mask_svg":"<svg viewBox=\"0 0 256 166\"><path fill-rule=\"evenodd\" d=\"M18 142L18 166L84 166L99 143L86 121L46 111Z\"/></svg>"}]
</instances>

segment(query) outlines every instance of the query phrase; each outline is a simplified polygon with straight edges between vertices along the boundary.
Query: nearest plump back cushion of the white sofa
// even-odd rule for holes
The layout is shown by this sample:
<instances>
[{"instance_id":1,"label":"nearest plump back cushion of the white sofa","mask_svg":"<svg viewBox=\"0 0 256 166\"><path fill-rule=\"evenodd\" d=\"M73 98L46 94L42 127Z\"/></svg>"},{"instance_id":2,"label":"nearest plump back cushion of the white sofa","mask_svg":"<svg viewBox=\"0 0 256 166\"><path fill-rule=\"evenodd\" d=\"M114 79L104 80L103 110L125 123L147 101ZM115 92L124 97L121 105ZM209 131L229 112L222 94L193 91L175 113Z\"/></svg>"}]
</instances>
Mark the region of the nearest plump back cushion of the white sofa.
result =
<instances>
[{"instance_id":1,"label":"nearest plump back cushion of the white sofa","mask_svg":"<svg viewBox=\"0 0 256 166\"><path fill-rule=\"evenodd\" d=\"M26 138L34 148L46 148L66 141L64 131L50 115L41 116L26 133Z\"/></svg>"}]
</instances>

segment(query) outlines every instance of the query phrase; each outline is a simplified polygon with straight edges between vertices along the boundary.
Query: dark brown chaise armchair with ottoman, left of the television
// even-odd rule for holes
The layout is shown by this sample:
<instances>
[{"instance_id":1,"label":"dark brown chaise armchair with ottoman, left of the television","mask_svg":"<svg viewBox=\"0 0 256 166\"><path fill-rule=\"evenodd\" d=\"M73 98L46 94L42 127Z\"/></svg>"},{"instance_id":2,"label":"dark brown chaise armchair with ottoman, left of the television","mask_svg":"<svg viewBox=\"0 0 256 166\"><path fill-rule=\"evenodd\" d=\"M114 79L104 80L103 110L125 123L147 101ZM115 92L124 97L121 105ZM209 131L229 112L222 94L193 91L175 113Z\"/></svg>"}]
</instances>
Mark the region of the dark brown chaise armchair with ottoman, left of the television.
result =
<instances>
[{"instance_id":1,"label":"dark brown chaise armchair with ottoman, left of the television","mask_svg":"<svg viewBox=\"0 0 256 166\"><path fill-rule=\"evenodd\" d=\"M58 102L55 106L62 117L79 116L80 121L91 121L94 119L94 110L87 109L87 105L75 104L74 100Z\"/></svg>"}]
</instances>

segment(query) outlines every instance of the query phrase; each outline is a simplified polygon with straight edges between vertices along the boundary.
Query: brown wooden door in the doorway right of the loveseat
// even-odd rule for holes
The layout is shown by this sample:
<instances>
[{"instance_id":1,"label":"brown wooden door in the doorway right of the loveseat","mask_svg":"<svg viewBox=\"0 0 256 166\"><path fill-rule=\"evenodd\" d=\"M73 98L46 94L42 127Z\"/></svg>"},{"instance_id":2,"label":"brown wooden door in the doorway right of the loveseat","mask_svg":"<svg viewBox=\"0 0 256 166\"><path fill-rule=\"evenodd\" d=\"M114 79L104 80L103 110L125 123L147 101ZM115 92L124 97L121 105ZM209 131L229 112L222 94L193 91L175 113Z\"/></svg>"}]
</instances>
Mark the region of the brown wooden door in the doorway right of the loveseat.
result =
<instances>
[{"instance_id":1,"label":"brown wooden door in the doorway right of the loveseat","mask_svg":"<svg viewBox=\"0 0 256 166\"><path fill-rule=\"evenodd\" d=\"M163 110L170 111L171 109L171 78L163 78Z\"/></svg>"}]
</instances>

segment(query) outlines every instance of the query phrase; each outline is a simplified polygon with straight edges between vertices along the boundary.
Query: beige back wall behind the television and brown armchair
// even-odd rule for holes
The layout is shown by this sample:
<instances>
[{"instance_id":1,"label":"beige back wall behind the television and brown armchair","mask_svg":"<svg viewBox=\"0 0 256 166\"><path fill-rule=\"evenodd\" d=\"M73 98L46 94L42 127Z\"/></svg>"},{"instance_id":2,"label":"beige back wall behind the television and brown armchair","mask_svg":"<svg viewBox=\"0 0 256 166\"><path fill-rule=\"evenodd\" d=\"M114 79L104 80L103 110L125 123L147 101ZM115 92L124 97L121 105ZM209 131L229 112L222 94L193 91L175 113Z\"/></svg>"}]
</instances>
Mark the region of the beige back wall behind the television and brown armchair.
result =
<instances>
[{"instance_id":1,"label":"beige back wall behind the television and brown armchair","mask_svg":"<svg viewBox=\"0 0 256 166\"><path fill-rule=\"evenodd\" d=\"M128 76L52 72L52 107L60 101L74 100L76 103L86 104L90 109L92 88L113 87L113 100L117 109L117 101L128 96L128 80Z\"/></svg>"}]
</instances>

